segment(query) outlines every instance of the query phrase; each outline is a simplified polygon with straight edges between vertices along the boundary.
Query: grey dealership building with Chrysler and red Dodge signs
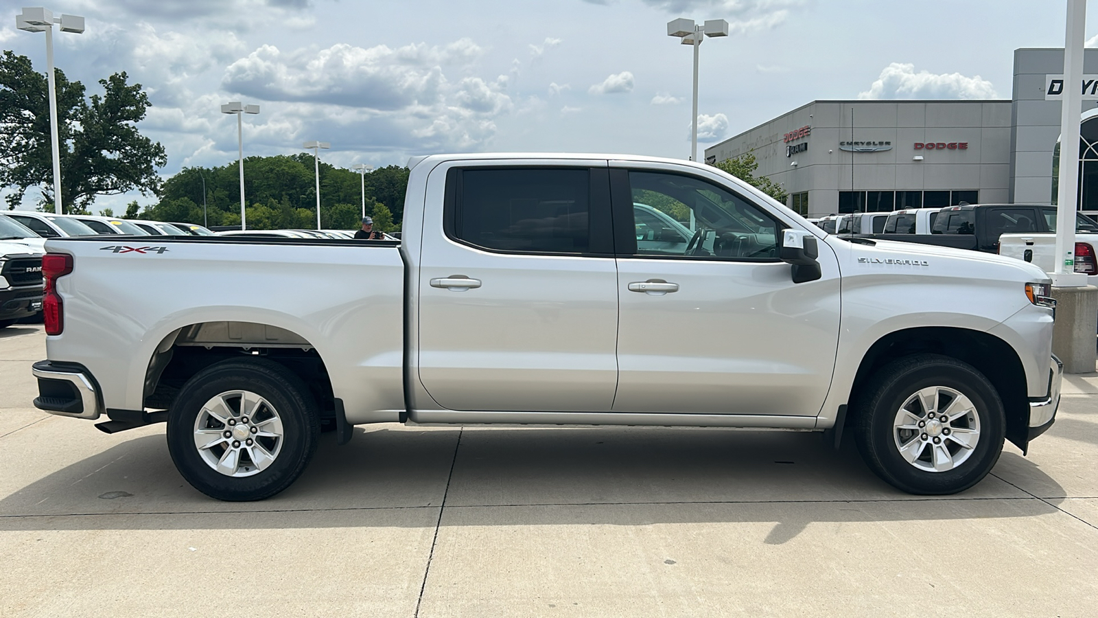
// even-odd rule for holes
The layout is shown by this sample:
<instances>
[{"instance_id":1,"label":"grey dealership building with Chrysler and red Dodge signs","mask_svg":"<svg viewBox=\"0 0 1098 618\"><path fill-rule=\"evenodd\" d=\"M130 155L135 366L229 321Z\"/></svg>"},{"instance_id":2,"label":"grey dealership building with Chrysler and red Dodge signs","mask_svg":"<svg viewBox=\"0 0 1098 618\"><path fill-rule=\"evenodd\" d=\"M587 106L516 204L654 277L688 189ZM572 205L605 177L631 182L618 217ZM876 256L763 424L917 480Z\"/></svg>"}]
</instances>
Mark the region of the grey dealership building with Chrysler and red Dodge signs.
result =
<instances>
[{"instance_id":1,"label":"grey dealership building with Chrysler and red Dodge signs","mask_svg":"<svg viewBox=\"0 0 1098 618\"><path fill-rule=\"evenodd\" d=\"M813 101L705 151L747 153L808 217L1053 203L1064 51L1015 51L1009 100ZM1080 210L1098 212L1098 49L1084 59ZM1094 190L1090 190L1094 189Z\"/></svg>"}]
</instances>

